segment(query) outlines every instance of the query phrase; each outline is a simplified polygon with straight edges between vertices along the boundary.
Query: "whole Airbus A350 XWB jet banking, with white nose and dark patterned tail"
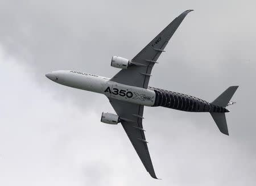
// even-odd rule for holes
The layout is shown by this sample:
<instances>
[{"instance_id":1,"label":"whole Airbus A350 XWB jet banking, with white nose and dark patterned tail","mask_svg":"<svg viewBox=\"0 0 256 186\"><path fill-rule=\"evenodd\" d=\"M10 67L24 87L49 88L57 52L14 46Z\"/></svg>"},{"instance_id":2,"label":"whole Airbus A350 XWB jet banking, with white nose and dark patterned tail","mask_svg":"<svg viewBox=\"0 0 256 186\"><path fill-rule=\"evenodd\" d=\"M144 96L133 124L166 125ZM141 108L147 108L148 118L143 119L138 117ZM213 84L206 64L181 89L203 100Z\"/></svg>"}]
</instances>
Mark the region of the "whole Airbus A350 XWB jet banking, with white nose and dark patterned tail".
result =
<instances>
[{"instance_id":1,"label":"whole Airbus A350 XWB jet banking, with white nose and dark patterned tail","mask_svg":"<svg viewBox=\"0 0 256 186\"><path fill-rule=\"evenodd\" d=\"M162 106L187 112L209 112L218 129L226 135L229 134L225 118L225 112L229 110L225 107L235 103L230 102L230 99L238 86L229 87L212 103L194 96L148 86L151 70L158 63L158 57L164 52L177 27L191 11L184 11L175 18L132 60L113 56L111 66L122 70L111 79L75 70L59 70L46 74L47 78L56 83L106 95L117 115L102 112L101 122L121 122L144 167L155 179L157 177L142 126L144 106Z\"/></svg>"}]
</instances>

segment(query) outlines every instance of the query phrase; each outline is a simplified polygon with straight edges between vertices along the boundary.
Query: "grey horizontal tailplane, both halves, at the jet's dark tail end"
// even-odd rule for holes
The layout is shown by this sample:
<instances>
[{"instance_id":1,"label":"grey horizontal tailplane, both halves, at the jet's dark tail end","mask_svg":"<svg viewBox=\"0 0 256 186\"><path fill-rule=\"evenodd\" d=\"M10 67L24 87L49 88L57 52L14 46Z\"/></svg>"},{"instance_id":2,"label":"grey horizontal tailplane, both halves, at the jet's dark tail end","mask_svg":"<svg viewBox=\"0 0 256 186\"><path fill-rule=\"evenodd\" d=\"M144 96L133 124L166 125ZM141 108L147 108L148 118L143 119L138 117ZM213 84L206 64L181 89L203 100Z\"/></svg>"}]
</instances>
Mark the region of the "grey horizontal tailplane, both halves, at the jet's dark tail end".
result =
<instances>
[{"instance_id":1,"label":"grey horizontal tailplane, both halves, at the jet's dark tail end","mask_svg":"<svg viewBox=\"0 0 256 186\"><path fill-rule=\"evenodd\" d=\"M218 98L216 98L212 104L219 106L219 107L226 107L228 106L228 103L232 96L234 95L234 92L236 92L238 86L231 86L227 90L225 90ZM228 125L226 124L226 116L225 113L218 113L218 112L210 112L210 115L212 115L213 120L216 122L216 125L218 126L218 129L220 129L220 132L229 135L228 131Z\"/></svg>"}]
</instances>

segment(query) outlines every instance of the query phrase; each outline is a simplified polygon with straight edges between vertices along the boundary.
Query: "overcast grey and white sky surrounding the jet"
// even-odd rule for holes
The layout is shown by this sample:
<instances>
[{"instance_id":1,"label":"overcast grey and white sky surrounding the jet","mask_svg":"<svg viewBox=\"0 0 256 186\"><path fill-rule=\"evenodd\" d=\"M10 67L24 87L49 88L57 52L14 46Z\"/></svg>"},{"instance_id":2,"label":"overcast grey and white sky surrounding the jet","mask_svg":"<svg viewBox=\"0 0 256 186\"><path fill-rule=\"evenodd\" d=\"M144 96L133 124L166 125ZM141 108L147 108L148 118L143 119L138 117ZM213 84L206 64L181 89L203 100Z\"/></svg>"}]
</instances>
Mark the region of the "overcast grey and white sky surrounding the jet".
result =
<instances>
[{"instance_id":1,"label":"overcast grey and white sky surrounding the jet","mask_svg":"<svg viewBox=\"0 0 256 186\"><path fill-rule=\"evenodd\" d=\"M0 185L256 184L255 1L0 0ZM112 56L133 58L188 14L152 70L150 86L212 101L239 85L226 115L144 108L156 176L146 172L104 95L44 74L113 77Z\"/></svg>"}]
</instances>

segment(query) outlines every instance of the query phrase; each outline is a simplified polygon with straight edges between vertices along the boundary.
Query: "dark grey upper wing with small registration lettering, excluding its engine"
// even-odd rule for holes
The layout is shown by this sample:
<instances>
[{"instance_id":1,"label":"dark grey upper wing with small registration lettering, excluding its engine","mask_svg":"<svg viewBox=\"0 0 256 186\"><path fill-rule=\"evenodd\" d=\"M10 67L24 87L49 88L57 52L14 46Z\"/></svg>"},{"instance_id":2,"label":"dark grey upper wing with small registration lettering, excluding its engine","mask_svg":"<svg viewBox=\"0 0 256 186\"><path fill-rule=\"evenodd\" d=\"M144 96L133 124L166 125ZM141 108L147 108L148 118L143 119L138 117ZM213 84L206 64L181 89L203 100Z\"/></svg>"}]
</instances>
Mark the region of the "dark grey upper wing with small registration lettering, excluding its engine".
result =
<instances>
[{"instance_id":1,"label":"dark grey upper wing with small registration lettering, excluding its engine","mask_svg":"<svg viewBox=\"0 0 256 186\"><path fill-rule=\"evenodd\" d=\"M147 88L151 70L185 16L193 10L184 11L159 33L131 60L128 69L120 70L111 81L130 86Z\"/></svg>"}]
</instances>

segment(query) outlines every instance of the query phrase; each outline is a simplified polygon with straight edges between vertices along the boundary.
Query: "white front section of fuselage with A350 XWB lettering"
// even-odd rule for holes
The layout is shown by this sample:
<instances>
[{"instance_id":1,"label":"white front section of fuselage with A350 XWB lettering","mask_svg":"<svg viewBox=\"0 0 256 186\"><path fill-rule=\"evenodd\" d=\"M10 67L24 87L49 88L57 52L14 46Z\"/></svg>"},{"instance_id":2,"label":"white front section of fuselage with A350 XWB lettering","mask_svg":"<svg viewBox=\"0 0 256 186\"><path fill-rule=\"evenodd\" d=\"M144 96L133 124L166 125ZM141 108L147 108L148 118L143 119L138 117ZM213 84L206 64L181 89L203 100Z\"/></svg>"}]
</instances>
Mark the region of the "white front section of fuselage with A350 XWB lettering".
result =
<instances>
[{"instance_id":1,"label":"white front section of fuselage with A350 XWB lettering","mask_svg":"<svg viewBox=\"0 0 256 186\"><path fill-rule=\"evenodd\" d=\"M152 106L155 103L155 92L146 88L128 86L110 81L109 78L81 73L75 70L59 70L46 74L52 81L81 90L97 92L108 98L125 102Z\"/></svg>"}]
</instances>

